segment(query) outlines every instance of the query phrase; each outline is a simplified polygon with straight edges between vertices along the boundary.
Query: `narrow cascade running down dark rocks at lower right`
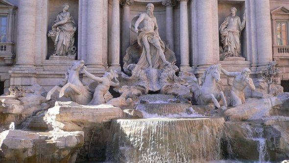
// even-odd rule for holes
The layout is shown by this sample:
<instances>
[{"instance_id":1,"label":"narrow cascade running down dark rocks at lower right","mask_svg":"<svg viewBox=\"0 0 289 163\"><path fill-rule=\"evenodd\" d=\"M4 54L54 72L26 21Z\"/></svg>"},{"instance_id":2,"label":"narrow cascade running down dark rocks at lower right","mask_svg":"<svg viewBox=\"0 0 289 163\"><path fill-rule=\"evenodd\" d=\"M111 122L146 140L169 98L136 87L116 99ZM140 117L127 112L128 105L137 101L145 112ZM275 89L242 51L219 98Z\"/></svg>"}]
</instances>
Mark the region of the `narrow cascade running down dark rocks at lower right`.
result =
<instances>
[{"instance_id":1,"label":"narrow cascade running down dark rocks at lower right","mask_svg":"<svg viewBox=\"0 0 289 163\"><path fill-rule=\"evenodd\" d=\"M242 124L241 128L247 132L247 138L258 141L259 163L270 163L265 161L266 156L269 157L269 155L266 147L266 139L263 137L263 127L251 127L248 124ZM269 160L269 158L267 160Z\"/></svg>"}]
</instances>

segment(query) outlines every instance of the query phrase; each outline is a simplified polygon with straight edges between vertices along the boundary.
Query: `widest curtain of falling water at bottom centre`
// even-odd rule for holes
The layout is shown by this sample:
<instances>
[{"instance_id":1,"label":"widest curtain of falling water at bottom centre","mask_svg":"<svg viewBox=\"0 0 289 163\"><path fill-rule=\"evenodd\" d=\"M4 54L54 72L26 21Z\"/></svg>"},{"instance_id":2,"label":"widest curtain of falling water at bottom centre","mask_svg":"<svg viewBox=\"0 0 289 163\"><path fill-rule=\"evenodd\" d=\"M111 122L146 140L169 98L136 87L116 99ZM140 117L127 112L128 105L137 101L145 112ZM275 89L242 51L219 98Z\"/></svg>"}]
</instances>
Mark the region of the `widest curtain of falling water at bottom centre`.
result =
<instances>
[{"instance_id":1,"label":"widest curtain of falling water at bottom centre","mask_svg":"<svg viewBox=\"0 0 289 163\"><path fill-rule=\"evenodd\" d=\"M112 122L112 162L200 162L220 159L223 118L118 119Z\"/></svg>"}]
</instances>

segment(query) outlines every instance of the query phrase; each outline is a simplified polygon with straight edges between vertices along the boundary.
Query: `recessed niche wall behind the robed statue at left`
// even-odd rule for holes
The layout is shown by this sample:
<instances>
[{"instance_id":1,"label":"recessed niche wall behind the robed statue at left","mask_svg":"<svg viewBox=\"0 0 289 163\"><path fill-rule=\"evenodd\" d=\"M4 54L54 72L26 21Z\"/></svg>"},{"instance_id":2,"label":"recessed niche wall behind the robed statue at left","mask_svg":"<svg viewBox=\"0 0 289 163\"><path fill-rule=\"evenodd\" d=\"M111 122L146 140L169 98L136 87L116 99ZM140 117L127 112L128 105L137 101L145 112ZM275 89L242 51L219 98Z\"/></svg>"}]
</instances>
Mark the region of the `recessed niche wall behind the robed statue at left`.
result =
<instances>
[{"instance_id":1,"label":"recessed niche wall behind the robed statue at left","mask_svg":"<svg viewBox=\"0 0 289 163\"><path fill-rule=\"evenodd\" d=\"M70 4L69 12L72 15L74 22L77 26L77 30L74 34L75 42L74 46L77 48L77 43L78 43L78 0L48 0L48 30L51 30L51 25L55 21L55 18L59 12L62 12L63 10L63 3L68 3ZM50 37L47 37L48 45L47 45L47 57L46 59L49 58L51 54L54 52L54 42L51 40ZM77 58L77 57L76 57Z\"/></svg>"}]
</instances>

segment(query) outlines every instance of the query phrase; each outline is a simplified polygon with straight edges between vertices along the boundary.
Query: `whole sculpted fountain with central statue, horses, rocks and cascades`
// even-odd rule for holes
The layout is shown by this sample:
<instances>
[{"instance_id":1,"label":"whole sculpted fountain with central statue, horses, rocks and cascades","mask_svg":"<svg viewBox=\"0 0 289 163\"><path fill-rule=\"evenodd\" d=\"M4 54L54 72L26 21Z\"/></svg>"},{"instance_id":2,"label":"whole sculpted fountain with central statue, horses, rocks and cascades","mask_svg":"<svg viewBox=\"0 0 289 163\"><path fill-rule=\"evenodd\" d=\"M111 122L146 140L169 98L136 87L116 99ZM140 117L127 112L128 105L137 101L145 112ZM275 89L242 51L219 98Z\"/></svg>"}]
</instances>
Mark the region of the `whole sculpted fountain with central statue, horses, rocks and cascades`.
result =
<instances>
[{"instance_id":1,"label":"whole sculpted fountain with central statue, horses, rocks and cascades","mask_svg":"<svg viewBox=\"0 0 289 163\"><path fill-rule=\"evenodd\" d=\"M288 106L289 94L254 92L248 68L227 72L220 64L210 65L200 70L199 79L191 68L178 72L176 57L150 15L153 4L146 9L132 20L138 41L127 48L121 75L110 70L95 76L79 60L48 92L21 87L18 94L0 96L1 163L263 163L289 158L289 117L272 116L281 104ZM93 82L85 85L81 73L88 78L84 83ZM234 78L226 92L221 73ZM120 96L113 96L112 87ZM60 101L55 92L71 101Z\"/></svg>"}]
</instances>

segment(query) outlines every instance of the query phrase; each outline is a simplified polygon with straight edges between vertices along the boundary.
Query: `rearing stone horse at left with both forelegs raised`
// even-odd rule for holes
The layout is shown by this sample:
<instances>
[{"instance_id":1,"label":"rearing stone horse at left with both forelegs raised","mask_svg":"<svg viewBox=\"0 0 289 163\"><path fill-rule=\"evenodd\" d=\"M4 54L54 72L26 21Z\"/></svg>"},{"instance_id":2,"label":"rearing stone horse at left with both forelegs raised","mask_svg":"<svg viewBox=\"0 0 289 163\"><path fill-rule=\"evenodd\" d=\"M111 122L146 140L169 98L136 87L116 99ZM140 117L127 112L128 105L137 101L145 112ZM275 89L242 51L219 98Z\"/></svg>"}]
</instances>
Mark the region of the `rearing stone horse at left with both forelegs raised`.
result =
<instances>
[{"instance_id":1,"label":"rearing stone horse at left with both forelegs raised","mask_svg":"<svg viewBox=\"0 0 289 163\"><path fill-rule=\"evenodd\" d=\"M80 105L87 105L93 97L88 87L84 86L79 80L79 71L84 66L84 60L75 61L65 74L62 85L54 86L47 94L46 99L50 100L55 91L59 91L59 98L62 96L70 97L71 100Z\"/></svg>"}]
</instances>

